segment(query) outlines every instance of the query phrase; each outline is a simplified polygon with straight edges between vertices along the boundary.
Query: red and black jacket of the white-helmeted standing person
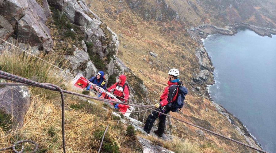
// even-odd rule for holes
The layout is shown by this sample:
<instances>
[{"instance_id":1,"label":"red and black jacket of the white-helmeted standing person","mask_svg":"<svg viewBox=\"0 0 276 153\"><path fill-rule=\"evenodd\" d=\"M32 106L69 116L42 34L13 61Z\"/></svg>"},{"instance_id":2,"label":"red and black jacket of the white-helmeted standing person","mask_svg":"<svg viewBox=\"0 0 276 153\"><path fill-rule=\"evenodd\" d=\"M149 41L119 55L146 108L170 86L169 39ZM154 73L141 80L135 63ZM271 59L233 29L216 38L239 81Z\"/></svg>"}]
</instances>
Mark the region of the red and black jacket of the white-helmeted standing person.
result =
<instances>
[{"instance_id":1,"label":"red and black jacket of the white-helmeted standing person","mask_svg":"<svg viewBox=\"0 0 276 153\"><path fill-rule=\"evenodd\" d=\"M165 87L163 93L160 96L161 106L166 106L168 103L172 103L176 99L178 88L175 86L172 86L175 88L171 88L171 85L173 84L177 85L177 82L168 81L168 86Z\"/></svg>"}]
</instances>

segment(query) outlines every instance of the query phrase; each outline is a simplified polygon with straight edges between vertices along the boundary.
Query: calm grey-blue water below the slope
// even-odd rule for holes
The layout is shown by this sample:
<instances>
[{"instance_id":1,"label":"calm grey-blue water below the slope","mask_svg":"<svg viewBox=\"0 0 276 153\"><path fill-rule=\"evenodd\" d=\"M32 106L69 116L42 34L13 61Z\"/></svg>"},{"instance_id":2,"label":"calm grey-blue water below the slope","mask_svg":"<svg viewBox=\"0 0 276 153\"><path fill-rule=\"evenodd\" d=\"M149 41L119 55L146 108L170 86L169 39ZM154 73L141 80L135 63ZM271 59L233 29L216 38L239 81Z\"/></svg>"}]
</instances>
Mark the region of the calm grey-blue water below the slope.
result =
<instances>
[{"instance_id":1,"label":"calm grey-blue water below the slope","mask_svg":"<svg viewBox=\"0 0 276 153\"><path fill-rule=\"evenodd\" d=\"M250 30L211 35L204 46L215 67L209 87L219 103L246 125L266 151L276 153L276 35Z\"/></svg>"}]
</instances>

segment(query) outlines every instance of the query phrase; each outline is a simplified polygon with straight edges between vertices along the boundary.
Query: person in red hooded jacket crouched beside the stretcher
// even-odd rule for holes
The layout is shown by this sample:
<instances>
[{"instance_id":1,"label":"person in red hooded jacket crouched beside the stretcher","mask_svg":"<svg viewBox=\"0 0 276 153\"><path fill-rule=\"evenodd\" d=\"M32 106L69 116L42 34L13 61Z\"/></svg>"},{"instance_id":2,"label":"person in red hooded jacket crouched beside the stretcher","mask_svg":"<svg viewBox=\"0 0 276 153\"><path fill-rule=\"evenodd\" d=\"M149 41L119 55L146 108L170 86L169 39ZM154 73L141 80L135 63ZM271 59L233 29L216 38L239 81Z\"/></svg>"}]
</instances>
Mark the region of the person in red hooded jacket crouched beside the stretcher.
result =
<instances>
[{"instance_id":1,"label":"person in red hooded jacket crouched beside the stretcher","mask_svg":"<svg viewBox=\"0 0 276 153\"><path fill-rule=\"evenodd\" d=\"M125 84L126 76L124 74L121 74L119 76L119 81L113 84L111 87L107 88L107 91L113 92L115 96L119 100L121 100L123 103L127 102L129 93L128 93L128 86ZM115 108L119 107L119 109L122 112L126 112L128 106L127 105L122 105L122 104L116 104L114 105Z\"/></svg>"}]
</instances>

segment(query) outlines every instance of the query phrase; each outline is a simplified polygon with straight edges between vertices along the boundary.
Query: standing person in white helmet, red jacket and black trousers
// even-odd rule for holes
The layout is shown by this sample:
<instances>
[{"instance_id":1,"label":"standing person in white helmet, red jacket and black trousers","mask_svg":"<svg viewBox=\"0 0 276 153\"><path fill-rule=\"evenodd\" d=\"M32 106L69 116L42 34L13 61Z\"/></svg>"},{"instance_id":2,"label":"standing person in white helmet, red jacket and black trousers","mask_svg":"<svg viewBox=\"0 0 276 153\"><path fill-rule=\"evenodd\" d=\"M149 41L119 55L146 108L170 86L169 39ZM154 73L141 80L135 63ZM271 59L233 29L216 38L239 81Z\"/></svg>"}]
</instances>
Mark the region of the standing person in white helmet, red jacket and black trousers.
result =
<instances>
[{"instance_id":1,"label":"standing person in white helmet, red jacket and black trousers","mask_svg":"<svg viewBox=\"0 0 276 153\"><path fill-rule=\"evenodd\" d=\"M178 94L178 85L179 83L179 71L178 69L170 69L168 73L168 86L165 87L162 95L160 96L159 103L155 104L156 110L168 114L171 111L172 103L176 100ZM164 130L166 128L166 116L162 115L158 112L152 111L151 114L148 115L146 120L144 131L148 134L151 132L152 125L156 118L159 118L158 129L154 131L156 135L159 137L163 136Z\"/></svg>"}]
</instances>

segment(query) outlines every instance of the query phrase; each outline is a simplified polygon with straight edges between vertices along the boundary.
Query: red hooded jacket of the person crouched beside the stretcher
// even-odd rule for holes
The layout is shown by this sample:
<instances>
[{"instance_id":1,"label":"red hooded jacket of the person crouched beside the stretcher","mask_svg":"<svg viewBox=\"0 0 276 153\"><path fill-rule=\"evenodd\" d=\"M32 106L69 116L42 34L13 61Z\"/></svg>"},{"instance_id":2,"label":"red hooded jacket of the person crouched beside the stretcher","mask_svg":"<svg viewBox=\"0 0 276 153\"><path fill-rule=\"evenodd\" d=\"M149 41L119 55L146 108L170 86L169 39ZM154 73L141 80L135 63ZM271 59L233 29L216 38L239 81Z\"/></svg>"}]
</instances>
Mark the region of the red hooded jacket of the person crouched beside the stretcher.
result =
<instances>
[{"instance_id":1,"label":"red hooded jacket of the person crouched beside the stretcher","mask_svg":"<svg viewBox=\"0 0 276 153\"><path fill-rule=\"evenodd\" d=\"M120 75L119 78L121 78L122 82L121 83L118 83L116 82L115 84L113 84L111 87L109 87L107 89L107 91L109 92L112 92L113 91L113 94L114 95L117 95L117 96L120 96L120 97L123 97L125 99L128 99L128 96L129 96L129 93L128 93L128 86L125 85L125 89L123 91L123 86L125 84L125 80L126 80L126 76L124 74ZM118 84L118 86L117 86ZM120 100L125 100L125 99L121 99L119 98ZM127 100L125 100L126 102Z\"/></svg>"}]
</instances>

